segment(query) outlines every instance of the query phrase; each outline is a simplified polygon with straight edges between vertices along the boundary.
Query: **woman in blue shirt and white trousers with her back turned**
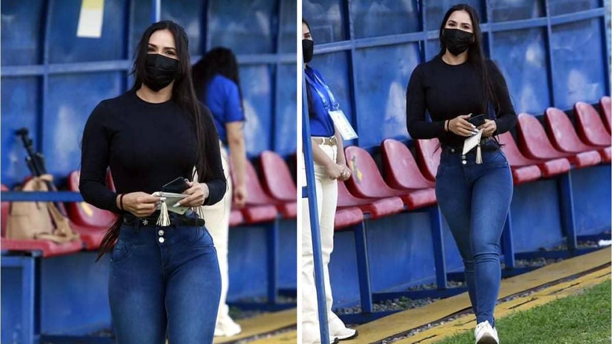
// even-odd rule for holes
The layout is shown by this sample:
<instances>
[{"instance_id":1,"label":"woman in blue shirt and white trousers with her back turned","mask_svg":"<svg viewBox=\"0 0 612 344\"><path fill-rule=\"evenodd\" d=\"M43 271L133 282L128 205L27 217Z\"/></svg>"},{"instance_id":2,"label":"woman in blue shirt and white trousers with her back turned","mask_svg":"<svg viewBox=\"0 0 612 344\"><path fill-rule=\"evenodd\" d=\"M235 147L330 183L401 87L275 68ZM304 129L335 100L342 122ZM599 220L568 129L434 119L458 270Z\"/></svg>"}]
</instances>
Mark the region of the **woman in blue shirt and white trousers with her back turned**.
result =
<instances>
[{"instance_id":1,"label":"woman in blue shirt and white trousers with her back turned","mask_svg":"<svg viewBox=\"0 0 612 344\"><path fill-rule=\"evenodd\" d=\"M211 109L215 127L219 133L221 156L225 179L228 181L228 192L221 201L212 206L202 207L202 214L206 220L206 228L210 231L217 249L217 259L221 269L221 299L217 314L215 336L232 336L242 330L230 318L230 308L225 303L228 293L228 233L230 231L230 212L233 200L236 206L244 206L247 200L247 187L245 185L245 154L244 113L242 111L242 92L238 77L238 63L234 53L226 48L214 48L193 66L193 84L198 98ZM236 185L232 185L230 178L230 164L228 153L233 166L232 174Z\"/></svg>"}]
</instances>

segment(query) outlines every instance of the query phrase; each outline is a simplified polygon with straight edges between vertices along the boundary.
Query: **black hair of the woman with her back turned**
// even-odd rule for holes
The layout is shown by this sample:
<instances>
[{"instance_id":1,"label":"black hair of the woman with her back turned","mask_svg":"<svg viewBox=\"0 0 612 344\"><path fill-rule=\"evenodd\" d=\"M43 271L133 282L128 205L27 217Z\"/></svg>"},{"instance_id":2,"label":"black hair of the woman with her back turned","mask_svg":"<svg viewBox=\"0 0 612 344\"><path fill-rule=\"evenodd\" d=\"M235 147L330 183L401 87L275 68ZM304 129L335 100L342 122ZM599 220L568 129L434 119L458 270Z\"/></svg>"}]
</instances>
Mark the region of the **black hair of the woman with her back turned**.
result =
<instances>
[{"instance_id":1,"label":"black hair of the woman with her back turned","mask_svg":"<svg viewBox=\"0 0 612 344\"><path fill-rule=\"evenodd\" d=\"M242 103L242 89L238 61L233 51L224 47L212 48L192 68L193 87L196 94L204 97L209 81L220 74L230 79L238 86L238 94Z\"/></svg>"}]
</instances>

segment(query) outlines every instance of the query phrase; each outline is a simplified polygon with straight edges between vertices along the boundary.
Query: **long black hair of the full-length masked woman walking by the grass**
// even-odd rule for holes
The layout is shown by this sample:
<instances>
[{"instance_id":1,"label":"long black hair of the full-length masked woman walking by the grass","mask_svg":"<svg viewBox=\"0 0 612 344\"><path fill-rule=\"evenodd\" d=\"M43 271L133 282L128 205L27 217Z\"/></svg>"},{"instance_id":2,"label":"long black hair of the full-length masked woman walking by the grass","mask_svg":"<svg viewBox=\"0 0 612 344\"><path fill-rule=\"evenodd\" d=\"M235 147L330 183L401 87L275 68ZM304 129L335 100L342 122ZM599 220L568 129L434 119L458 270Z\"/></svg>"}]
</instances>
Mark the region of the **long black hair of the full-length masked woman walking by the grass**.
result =
<instances>
[{"instance_id":1,"label":"long black hair of the full-length masked woman walking by the grass","mask_svg":"<svg viewBox=\"0 0 612 344\"><path fill-rule=\"evenodd\" d=\"M450 7L449 10L446 11L444 15L444 19L442 23L440 23L440 31L439 31L439 39L440 39L440 51L438 53L439 57L442 57L446 53L446 44L444 44L444 40L442 40L442 31L446 27L446 22L449 20L450 15L452 15L455 11L464 10L468 12L470 19L472 20L472 31L474 31L474 42L469 45L468 50L468 62L474 66L474 69L479 72L481 80L482 80L482 89L483 89L483 103L482 103L482 113L488 113L488 104L492 103L494 110L496 113L499 111L499 100L497 95L494 92L493 81L490 78L489 74L489 66L487 62L487 58L485 57L483 48L482 48L482 31L480 31L480 20L478 17L478 13L474 7L469 6L468 4L457 4L455 6ZM487 116L488 117L488 116Z\"/></svg>"}]
</instances>

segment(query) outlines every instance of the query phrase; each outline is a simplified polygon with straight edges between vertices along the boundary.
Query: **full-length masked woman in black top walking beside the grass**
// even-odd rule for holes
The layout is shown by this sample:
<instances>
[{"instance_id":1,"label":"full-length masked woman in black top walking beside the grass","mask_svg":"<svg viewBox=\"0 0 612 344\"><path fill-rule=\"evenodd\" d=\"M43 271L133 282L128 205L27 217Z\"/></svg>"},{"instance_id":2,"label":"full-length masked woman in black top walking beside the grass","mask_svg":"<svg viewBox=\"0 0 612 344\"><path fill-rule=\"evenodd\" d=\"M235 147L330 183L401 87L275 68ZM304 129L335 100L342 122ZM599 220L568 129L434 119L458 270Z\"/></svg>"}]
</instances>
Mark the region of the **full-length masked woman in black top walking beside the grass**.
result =
<instances>
[{"instance_id":1,"label":"full-length masked woman in black top walking beside the grass","mask_svg":"<svg viewBox=\"0 0 612 344\"><path fill-rule=\"evenodd\" d=\"M465 264L476 343L498 343L493 308L501 280L499 239L513 190L506 155L492 136L510 130L517 116L504 77L484 58L476 11L451 7L439 35L438 56L418 65L408 84L408 132L442 144L436 198ZM494 119L478 127L468 122L469 114L490 114L490 108ZM425 110L432 122L425 121ZM474 148L462 155L464 140L479 131L481 154Z\"/></svg>"}]
</instances>

